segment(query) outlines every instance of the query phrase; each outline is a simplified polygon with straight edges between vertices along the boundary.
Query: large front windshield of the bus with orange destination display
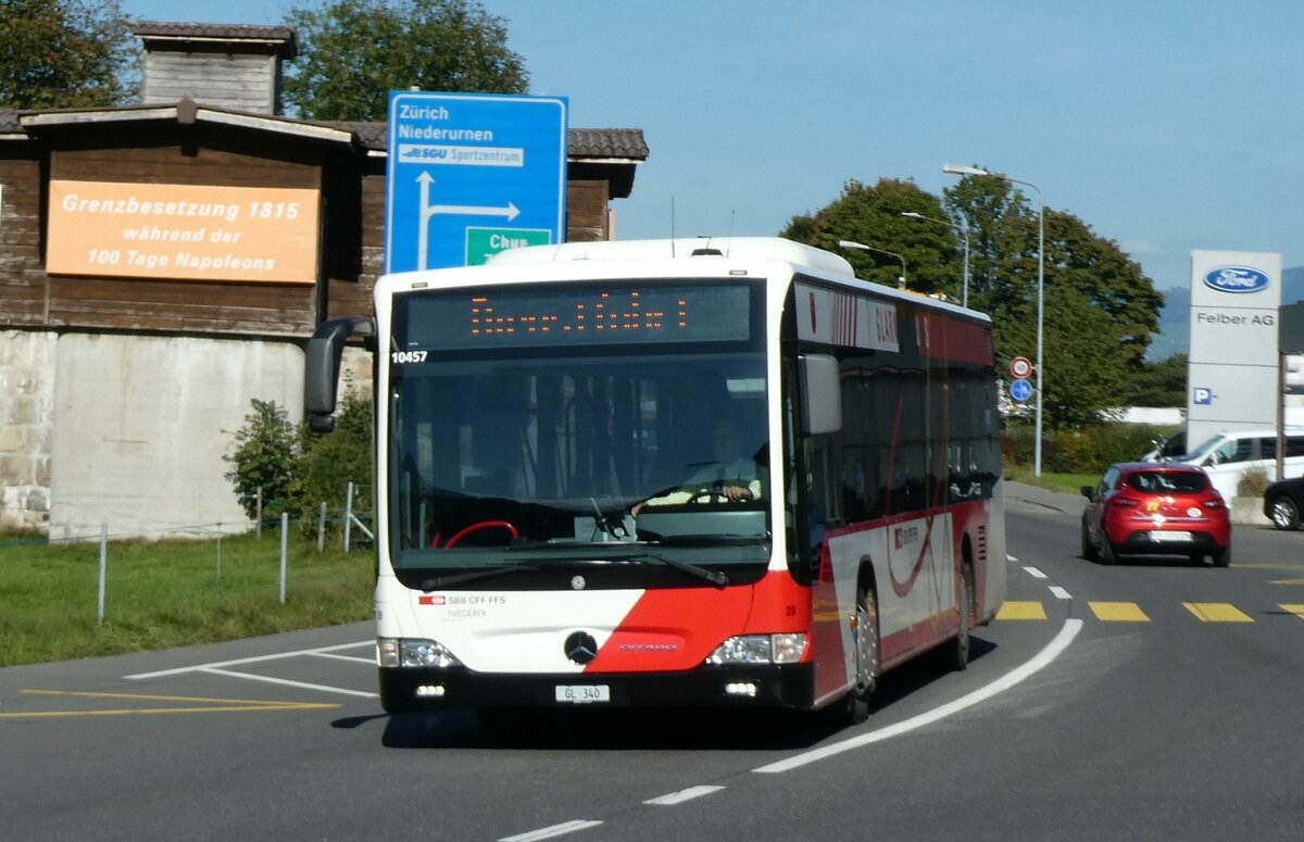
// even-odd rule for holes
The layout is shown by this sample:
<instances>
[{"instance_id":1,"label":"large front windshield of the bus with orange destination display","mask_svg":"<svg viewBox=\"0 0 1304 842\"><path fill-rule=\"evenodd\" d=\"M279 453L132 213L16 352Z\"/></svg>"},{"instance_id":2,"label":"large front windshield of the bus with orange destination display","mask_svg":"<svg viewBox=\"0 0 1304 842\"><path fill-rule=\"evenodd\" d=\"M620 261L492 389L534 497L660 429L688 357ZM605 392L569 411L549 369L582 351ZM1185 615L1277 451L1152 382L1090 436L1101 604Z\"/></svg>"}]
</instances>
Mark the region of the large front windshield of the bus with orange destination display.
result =
<instances>
[{"instance_id":1,"label":"large front windshield of the bus with orange destination display","mask_svg":"<svg viewBox=\"0 0 1304 842\"><path fill-rule=\"evenodd\" d=\"M439 587L553 563L768 560L759 289L716 285L694 302L683 293L698 289L657 287L689 301L670 331L597 334L589 323L482 341L475 319L486 308L493 319L514 314L512 326L535 318L559 330L576 297L475 292L395 297L386 457L400 576ZM638 292L643 302L657 297L647 285ZM610 284L585 295L599 293L630 301L630 289Z\"/></svg>"}]
</instances>

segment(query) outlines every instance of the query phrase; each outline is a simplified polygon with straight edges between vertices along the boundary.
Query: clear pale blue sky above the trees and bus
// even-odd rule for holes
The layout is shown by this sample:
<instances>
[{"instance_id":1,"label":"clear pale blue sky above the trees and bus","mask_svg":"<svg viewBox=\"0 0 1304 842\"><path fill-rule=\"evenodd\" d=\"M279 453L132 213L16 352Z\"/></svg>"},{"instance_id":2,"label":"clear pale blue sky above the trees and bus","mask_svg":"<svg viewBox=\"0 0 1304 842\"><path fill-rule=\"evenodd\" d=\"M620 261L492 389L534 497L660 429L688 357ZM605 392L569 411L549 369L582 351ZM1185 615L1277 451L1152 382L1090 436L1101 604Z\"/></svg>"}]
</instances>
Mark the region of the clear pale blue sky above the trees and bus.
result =
<instances>
[{"instance_id":1,"label":"clear pale blue sky above the trees and bus","mask_svg":"<svg viewBox=\"0 0 1304 842\"><path fill-rule=\"evenodd\" d=\"M120 3L259 25L318 5ZM1158 289L1189 285L1193 249L1304 265L1297 0L482 5L529 93L570 99L572 128L644 132L634 193L613 203L622 240L776 235L852 179L940 196L956 163L1035 184Z\"/></svg>"}]
</instances>

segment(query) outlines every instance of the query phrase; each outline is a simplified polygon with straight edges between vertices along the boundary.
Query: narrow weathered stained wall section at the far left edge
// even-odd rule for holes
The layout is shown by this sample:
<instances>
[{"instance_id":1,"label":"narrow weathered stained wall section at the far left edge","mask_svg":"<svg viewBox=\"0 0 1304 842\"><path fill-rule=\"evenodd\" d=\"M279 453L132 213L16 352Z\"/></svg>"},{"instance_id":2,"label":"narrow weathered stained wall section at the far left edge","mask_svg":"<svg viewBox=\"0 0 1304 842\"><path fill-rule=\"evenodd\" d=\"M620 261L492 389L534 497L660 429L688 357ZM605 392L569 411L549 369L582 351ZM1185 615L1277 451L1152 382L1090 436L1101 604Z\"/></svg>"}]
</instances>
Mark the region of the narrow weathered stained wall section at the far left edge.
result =
<instances>
[{"instance_id":1,"label":"narrow weathered stained wall section at the far left edge","mask_svg":"<svg viewBox=\"0 0 1304 842\"><path fill-rule=\"evenodd\" d=\"M55 347L52 332L0 331L0 528L50 517Z\"/></svg>"}]
</instances>

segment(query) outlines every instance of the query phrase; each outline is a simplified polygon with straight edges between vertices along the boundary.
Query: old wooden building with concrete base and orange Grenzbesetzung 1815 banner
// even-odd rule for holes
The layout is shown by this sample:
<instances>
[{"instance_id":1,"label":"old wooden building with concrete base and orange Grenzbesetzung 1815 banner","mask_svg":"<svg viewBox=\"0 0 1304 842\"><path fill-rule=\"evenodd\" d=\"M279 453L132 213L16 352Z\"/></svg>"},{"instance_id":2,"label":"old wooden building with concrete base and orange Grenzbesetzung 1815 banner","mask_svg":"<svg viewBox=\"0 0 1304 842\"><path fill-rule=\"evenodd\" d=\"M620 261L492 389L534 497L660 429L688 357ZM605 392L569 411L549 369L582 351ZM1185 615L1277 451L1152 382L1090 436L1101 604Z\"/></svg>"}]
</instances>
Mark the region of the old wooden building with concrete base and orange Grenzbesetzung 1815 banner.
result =
<instances>
[{"instance_id":1,"label":"old wooden building with concrete base and orange Grenzbesetzung 1815 banner","mask_svg":"<svg viewBox=\"0 0 1304 842\"><path fill-rule=\"evenodd\" d=\"M303 345L382 266L386 126L279 113L292 30L136 31L140 106L0 112L0 524L52 537L243 528L228 431L301 413ZM647 155L570 130L570 240Z\"/></svg>"}]
</instances>

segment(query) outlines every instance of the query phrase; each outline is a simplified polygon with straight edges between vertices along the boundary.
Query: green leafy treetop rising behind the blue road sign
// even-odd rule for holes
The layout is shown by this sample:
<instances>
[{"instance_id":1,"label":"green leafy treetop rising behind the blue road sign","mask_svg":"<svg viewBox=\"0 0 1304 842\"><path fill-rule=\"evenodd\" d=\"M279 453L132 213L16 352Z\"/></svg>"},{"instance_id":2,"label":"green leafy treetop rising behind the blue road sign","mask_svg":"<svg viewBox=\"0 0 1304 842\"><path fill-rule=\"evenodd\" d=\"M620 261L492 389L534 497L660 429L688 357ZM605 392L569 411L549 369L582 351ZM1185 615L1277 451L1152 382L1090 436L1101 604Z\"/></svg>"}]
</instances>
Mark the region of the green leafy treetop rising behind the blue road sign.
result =
<instances>
[{"instance_id":1,"label":"green leafy treetop rising behind the blue road sign","mask_svg":"<svg viewBox=\"0 0 1304 842\"><path fill-rule=\"evenodd\" d=\"M299 34L286 104L306 120L385 120L391 89L528 89L503 18L479 0L331 0L291 9L286 23Z\"/></svg>"}]
</instances>

